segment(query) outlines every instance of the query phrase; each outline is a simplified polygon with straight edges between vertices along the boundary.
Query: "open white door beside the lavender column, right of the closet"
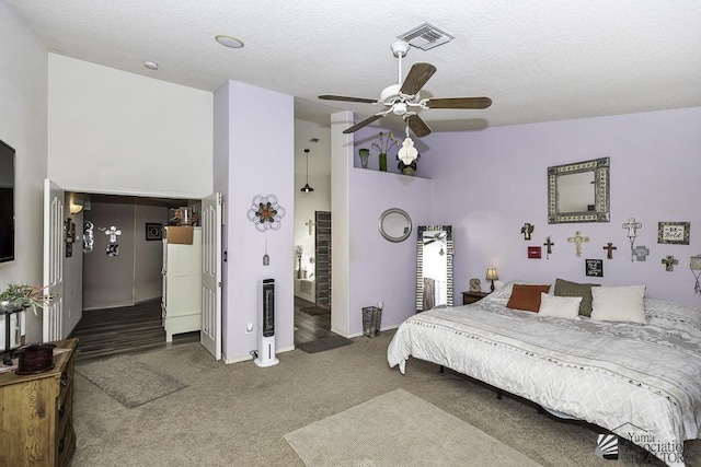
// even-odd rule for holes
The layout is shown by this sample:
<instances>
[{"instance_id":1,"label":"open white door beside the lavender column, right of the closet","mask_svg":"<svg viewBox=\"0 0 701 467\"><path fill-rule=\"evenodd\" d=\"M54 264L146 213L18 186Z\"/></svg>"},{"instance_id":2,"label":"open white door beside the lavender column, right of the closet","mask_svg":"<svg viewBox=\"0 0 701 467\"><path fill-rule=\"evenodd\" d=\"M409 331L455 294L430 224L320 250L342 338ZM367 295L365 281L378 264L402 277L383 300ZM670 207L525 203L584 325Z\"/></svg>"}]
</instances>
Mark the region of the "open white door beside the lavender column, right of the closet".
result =
<instances>
[{"instance_id":1,"label":"open white door beside the lavender column, right of the closet","mask_svg":"<svg viewBox=\"0 0 701 467\"><path fill-rule=\"evenodd\" d=\"M202 200L202 330L199 341L221 359L221 194Z\"/></svg>"}]
</instances>

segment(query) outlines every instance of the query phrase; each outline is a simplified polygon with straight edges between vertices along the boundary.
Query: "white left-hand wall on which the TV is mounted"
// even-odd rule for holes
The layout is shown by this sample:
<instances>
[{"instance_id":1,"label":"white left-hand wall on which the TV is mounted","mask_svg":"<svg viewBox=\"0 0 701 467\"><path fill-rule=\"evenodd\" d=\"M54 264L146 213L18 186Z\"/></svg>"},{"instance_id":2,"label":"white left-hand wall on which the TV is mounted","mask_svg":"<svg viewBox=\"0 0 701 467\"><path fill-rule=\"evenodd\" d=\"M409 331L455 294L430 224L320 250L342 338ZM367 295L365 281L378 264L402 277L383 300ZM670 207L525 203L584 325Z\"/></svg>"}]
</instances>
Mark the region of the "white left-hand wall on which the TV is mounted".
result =
<instances>
[{"instance_id":1,"label":"white left-hand wall on which the TV is mounted","mask_svg":"<svg viewBox=\"0 0 701 467\"><path fill-rule=\"evenodd\" d=\"M42 283L43 186L47 165L46 48L0 0L0 139L15 154L15 260L0 264L0 288ZM41 318L27 314L26 339L42 340Z\"/></svg>"}]
</instances>

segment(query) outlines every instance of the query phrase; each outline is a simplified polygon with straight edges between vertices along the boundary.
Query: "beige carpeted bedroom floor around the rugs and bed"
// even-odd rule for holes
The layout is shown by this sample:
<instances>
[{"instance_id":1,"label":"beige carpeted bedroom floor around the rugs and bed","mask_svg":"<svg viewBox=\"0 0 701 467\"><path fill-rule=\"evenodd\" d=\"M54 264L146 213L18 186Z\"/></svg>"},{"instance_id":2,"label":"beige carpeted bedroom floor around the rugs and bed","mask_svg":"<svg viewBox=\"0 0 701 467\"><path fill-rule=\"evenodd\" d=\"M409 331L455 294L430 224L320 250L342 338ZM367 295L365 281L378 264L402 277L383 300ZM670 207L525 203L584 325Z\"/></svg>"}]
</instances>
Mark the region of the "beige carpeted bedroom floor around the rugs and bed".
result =
<instances>
[{"instance_id":1,"label":"beige carpeted bedroom floor around the rugs and bed","mask_svg":"<svg viewBox=\"0 0 701 467\"><path fill-rule=\"evenodd\" d=\"M77 373L72 467L302 466L285 434L400 388L544 467L611 467L594 454L601 429L538 415L508 395L498 400L492 388L440 374L430 363L412 359L405 375L390 369L392 335L354 338L352 346L319 353L278 353L279 364L271 367L216 362L197 343L135 355L187 387L133 409ZM686 446L687 465L700 465L701 442ZM635 465L635 452L621 450L616 466Z\"/></svg>"}]
</instances>

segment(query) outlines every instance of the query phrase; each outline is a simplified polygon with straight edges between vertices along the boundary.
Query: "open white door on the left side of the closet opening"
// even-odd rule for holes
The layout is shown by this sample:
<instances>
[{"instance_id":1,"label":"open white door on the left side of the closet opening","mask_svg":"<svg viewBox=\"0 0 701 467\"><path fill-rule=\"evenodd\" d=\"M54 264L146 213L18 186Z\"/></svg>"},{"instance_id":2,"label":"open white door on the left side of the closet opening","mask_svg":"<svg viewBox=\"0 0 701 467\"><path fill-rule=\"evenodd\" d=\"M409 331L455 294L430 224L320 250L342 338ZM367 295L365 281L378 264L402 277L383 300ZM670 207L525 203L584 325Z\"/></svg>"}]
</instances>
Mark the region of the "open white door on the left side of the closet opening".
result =
<instances>
[{"instance_id":1,"label":"open white door on the left side of the closet opening","mask_svg":"<svg viewBox=\"0 0 701 467\"><path fill-rule=\"evenodd\" d=\"M61 187L44 180L44 293L54 296L44 308L44 342L64 339L64 199Z\"/></svg>"}]
</instances>

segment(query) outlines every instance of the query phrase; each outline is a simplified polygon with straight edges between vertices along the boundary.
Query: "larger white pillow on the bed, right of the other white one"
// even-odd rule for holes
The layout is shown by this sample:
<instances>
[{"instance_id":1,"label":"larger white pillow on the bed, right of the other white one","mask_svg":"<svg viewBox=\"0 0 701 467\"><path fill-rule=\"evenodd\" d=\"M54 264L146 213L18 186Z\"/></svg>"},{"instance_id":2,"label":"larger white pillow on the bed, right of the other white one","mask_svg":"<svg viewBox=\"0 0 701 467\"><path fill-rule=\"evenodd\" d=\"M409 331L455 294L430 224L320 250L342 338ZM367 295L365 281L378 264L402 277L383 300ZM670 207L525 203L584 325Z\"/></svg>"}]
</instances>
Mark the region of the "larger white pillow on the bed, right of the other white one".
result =
<instances>
[{"instance_id":1,"label":"larger white pillow on the bed, right of the other white one","mask_svg":"<svg viewBox=\"0 0 701 467\"><path fill-rule=\"evenodd\" d=\"M645 285L593 287L591 319L647 324Z\"/></svg>"}]
</instances>

